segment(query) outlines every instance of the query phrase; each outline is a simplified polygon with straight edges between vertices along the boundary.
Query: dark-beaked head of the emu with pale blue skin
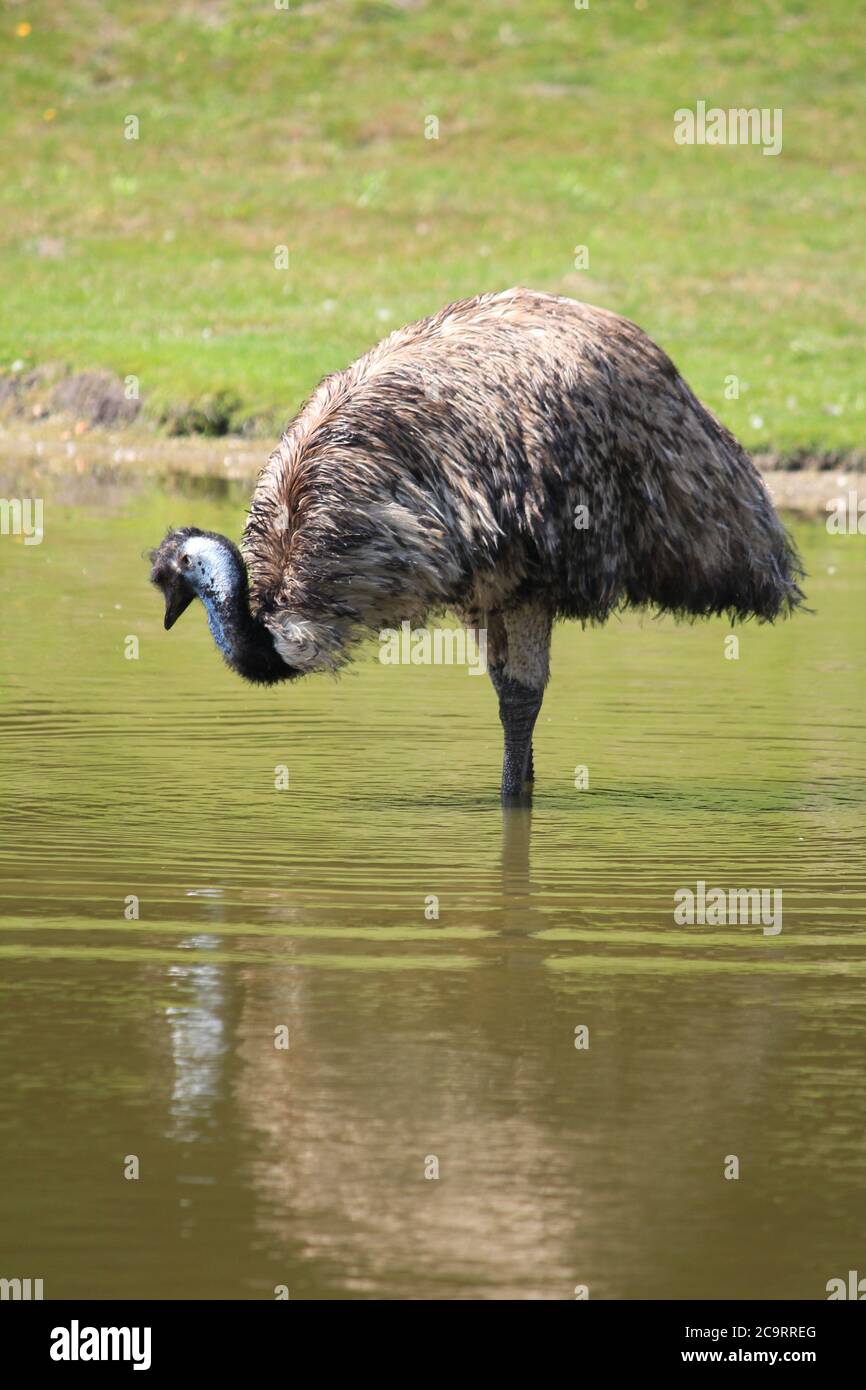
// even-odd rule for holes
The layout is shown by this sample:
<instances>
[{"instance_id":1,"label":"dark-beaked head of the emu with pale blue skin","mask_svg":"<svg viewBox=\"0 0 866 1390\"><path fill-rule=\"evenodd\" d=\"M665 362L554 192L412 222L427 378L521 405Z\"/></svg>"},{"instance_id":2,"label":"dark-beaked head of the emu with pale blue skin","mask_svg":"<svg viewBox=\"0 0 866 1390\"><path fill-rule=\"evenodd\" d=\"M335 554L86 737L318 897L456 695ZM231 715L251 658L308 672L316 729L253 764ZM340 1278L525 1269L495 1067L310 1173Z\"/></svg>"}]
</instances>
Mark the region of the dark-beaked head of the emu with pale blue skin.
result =
<instances>
[{"instance_id":1,"label":"dark-beaked head of the emu with pale blue skin","mask_svg":"<svg viewBox=\"0 0 866 1390\"><path fill-rule=\"evenodd\" d=\"M195 525L170 531L150 552L150 580L165 599L165 628L174 627L195 598L222 606L246 594L240 552L215 531Z\"/></svg>"}]
</instances>

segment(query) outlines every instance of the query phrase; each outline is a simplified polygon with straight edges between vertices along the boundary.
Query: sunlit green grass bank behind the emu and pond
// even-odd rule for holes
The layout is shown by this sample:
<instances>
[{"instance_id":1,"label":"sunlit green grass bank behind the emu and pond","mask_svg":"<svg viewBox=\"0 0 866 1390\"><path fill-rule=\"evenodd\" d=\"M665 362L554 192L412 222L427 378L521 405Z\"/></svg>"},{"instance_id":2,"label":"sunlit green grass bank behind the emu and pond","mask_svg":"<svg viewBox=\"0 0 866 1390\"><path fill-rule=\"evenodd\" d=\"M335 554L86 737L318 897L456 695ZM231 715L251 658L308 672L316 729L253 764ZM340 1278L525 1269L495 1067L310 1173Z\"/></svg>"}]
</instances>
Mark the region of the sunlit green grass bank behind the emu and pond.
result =
<instances>
[{"instance_id":1,"label":"sunlit green grass bank behind the emu and pond","mask_svg":"<svg viewBox=\"0 0 866 1390\"><path fill-rule=\"evenodd\" d=\"M0 370L282 423L521 282L635 318L752 448L862 445L865 36L849 0L7 3ZM676 146L698 99L781 107L781 154Z\"/></svg>"}]
</instances>

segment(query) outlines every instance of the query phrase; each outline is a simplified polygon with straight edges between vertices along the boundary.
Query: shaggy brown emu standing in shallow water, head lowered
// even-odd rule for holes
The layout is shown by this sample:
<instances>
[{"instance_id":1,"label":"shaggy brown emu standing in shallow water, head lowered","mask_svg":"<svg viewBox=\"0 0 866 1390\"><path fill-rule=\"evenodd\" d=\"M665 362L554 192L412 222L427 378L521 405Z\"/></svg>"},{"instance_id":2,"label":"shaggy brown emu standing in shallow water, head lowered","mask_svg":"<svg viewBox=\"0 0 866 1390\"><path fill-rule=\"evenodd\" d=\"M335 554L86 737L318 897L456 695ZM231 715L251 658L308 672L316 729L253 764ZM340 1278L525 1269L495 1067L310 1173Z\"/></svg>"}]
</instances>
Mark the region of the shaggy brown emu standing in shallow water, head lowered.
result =
<instances>
[{"instance_id":1,"label":"shaggy brown emu standing in shallow water, head lowered","mask_svg":"<svg viewBox=\"0 0 866 1390\"><path fill-rule=\"evenodd\" d=\"M758 470L662 349L521 288L327 377L259 475L240 550L183 527L150 559L165 627L199 598L249 681L335 670L366 634L443 610L485 628L502 798L524 805L556 619L773 620L803 598Z\"/></svg>"}]
</instances>

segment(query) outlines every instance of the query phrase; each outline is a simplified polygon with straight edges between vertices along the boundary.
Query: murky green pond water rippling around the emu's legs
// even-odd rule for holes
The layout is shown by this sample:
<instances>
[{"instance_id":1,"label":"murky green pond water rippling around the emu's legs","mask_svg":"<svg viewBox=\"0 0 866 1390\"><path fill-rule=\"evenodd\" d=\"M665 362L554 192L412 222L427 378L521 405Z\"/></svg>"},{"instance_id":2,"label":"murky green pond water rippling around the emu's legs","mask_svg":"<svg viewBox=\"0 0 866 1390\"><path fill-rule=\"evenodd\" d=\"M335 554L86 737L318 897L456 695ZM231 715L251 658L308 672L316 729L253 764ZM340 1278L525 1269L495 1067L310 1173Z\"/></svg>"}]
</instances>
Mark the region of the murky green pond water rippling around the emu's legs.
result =
<instances>
[{"instance_id":1,"label":"murky green pond water rippling around the emu's legs","mask_svg":"<svg viewBox=\"0 0 866 1390\"><path fill-rule=\"evenodd\" d=\"M197 606L163 631L142 550L236 535L242 499L61 492L40 546L0 538L0 1276L822 1298L866 1273L863 539L801 527L815 612L741 628L738 660L720 621L559 630L535 808L503 821L487 678L370 652L259 691ZM781 890L781 933L677 926L698 880Z\"/></svg>"}]
</instances>

